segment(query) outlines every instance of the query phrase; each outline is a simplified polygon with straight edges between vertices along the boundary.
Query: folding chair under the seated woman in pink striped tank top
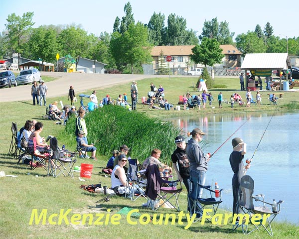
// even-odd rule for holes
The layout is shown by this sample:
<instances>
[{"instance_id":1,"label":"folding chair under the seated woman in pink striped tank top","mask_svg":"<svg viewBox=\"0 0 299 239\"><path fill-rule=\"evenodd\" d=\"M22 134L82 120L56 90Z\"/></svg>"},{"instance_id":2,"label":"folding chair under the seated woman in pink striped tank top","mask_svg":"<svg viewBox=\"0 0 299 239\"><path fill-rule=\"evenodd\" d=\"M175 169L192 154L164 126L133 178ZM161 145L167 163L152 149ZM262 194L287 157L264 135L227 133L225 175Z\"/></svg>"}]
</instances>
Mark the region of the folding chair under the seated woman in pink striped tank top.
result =
<instances>
[{"instance_id":1,"label":"folding chair under the seated woman in pink striped tank top","mask_svg":"<svg viewBox=\"0 0 299 239\"><path fill-rule=\"evenodd\" d=\"M49 160L50 157L50 147L37 147L36 139L33 137L33 147L28 147L28 149L31 155L31 161L29 162L31 170L43 167L47 171L48 164L46 161Z\"/></svg>"}]
</instances>

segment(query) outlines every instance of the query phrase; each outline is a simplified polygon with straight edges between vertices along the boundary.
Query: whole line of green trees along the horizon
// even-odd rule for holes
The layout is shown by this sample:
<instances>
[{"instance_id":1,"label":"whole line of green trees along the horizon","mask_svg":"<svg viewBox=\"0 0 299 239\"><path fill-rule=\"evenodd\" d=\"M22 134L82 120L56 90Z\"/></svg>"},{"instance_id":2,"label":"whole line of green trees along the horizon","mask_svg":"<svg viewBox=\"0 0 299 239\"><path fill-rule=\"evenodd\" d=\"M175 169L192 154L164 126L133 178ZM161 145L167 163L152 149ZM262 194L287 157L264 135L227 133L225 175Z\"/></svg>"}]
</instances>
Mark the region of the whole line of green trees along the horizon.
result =
<instances>
[{"instance_id":1,"label":"whole line of green trees along the horizon","mask_svg":"<svg viewBox=\"0 0 299 239\"><path fill-rule=\"evenodd\" d=\"M108 64L107 69L118 69L123 73L141 73L142 64L152 61L151 47L161 45L195 45L192 60L195 63L213 65L222 54L220 44L235 45L243 55L247 53L288 52L299 55L299 37L280 38L273 35L273 27L267 22L264 29L258 24L252 31L237 35L229 29L226 21L217 17L205 20L202 33L187 29L182 16L171 13L167 17L153 12L147 24L135 22L130 2L124 6L125 15L116 17L113 32L102 32L100 36L88 34L80 25L42 25L34 28L34 12L18 16L9 14L6 30L0 34L0 58L9 58L13 53L42 62L56 62L56 54L71 55L76 62L81 57ZM211 59L215 57L214 59ZM204 60L204 59L211 59Z\"/></svg>"}]
</instances>

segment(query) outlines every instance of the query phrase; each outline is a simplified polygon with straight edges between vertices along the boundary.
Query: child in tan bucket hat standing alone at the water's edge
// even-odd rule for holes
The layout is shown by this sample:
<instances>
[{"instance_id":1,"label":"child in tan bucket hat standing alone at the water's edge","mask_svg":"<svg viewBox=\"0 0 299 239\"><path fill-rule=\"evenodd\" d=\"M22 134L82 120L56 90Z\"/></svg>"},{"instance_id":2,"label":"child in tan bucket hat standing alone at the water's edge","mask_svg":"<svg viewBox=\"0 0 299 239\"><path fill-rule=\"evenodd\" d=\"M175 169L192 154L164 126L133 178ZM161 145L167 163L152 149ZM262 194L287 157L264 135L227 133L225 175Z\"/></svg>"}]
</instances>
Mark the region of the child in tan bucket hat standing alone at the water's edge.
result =
<instances>
[{"instance_id":1,"label":"child in tan bucket hat standing alone at the water's edge","mask_svg":"<svg viewBox=\"0 0 299 239\"><path fill-rule=\"evenodd\" d=\"M233 214L239 213L239 207L237 207L238 202L238 192L240 187L241 178L244 176L244 170L250 168L250 164L243 164L243 158L246 154L246 143L243 142L241 138L234 138L232 140L233 152L229 156L229 163L234 172L232 179L233 186Z\"/></svg>"}]
</instances>

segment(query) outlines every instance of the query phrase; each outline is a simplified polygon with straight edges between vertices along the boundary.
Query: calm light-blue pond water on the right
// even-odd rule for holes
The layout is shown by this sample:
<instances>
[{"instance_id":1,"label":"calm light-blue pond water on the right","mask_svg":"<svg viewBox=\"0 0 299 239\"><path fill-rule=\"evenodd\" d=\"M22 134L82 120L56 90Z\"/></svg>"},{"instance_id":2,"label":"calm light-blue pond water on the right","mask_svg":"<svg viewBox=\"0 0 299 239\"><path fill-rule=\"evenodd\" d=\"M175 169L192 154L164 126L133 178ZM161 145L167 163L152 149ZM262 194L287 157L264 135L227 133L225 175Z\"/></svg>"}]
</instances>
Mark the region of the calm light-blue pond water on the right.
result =
<instances>
[{"instance_id":1,"label":"calm light-blue pond water on the right","mask_svg":"<svg viewBox=\"0 0 299 239\"><path fill-rule=\"evenodd\" d=\"M211 158L206 174L206 185L215 185L215 182L218 182L220 188L224 189L221 207L231 210L233 200L231 186L233 172L229 164L229 155L232 152L231 140L234 137L241 137L247 143L247 154L244 159L253 157L247 175L255 181L254 195L262 193L265 195L265 201L270 203L273 199L277 202L284 200L281 213L276 220L299 224L297 201L299 199L297 148L299 147L297 125L299 113L225 114L170 121L182 128L185 137L187 132L191 132L195 127L206 132L202 148L204 153L211 154L246 121ZM256 204L257 202L254 202L254 205Z\"/></svg>"}]
</instances>

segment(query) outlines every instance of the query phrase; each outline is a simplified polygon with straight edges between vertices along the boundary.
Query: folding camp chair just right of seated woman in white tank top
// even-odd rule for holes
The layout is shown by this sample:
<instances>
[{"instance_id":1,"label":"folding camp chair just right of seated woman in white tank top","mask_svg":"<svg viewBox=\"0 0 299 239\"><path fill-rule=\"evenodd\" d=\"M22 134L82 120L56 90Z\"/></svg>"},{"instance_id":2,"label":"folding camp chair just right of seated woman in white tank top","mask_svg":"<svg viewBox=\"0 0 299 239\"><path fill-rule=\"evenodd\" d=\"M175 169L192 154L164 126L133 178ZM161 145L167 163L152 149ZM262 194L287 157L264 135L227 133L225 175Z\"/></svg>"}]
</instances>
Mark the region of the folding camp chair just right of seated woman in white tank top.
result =
<instances>
[{"instance_id":1,"label":"folding camp chair just right of seated woman in white tank top","mask_svg":"<svg viewBox=\"0 0 299 239\"><path fill-rule=\"evenodd\" d=\"M127 171L127 188L129 190L126 189L126 197L128 196L127 191L134 192L130 194L132 201L135 201L140 197L147 198L145 195L147 180L143 175L143 172L138 170L137 159L130 159Z\"/></svg>"}]
</instances>

